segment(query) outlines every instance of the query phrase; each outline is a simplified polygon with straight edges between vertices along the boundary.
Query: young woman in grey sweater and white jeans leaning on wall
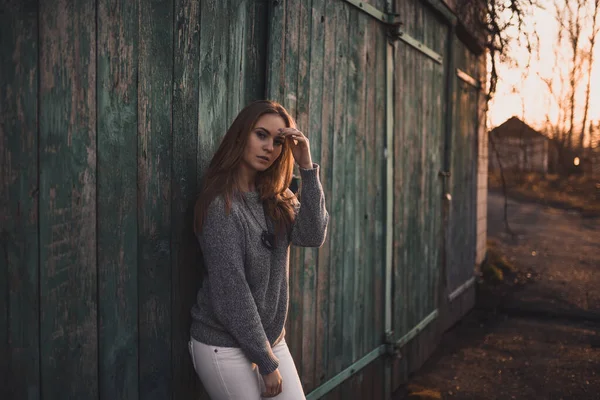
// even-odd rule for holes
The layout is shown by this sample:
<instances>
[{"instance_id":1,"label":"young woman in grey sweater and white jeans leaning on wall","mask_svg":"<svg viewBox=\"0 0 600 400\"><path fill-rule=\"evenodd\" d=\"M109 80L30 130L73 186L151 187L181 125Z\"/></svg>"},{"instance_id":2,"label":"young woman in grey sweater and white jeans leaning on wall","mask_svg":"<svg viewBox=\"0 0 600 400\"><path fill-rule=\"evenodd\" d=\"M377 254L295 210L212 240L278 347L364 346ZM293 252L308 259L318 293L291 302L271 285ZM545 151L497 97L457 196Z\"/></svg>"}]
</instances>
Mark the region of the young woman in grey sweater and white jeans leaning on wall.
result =
<instances>
[{"instance_id":1,"label":"young woman in grey sweater and white jeans leaning on wall","mask_svg":"<svg viewBox=\"0 0 600 400\"><path fill-rule=\"evenodd\" d=\"M294 161L301 204L288 189ZM257 101L239 113L194 218L207 276L192 308L190 354L208 394L304 399L284 340L289 246L320 247L329 214L308 139L281 105Z\"/></svg>"}]
</instances>

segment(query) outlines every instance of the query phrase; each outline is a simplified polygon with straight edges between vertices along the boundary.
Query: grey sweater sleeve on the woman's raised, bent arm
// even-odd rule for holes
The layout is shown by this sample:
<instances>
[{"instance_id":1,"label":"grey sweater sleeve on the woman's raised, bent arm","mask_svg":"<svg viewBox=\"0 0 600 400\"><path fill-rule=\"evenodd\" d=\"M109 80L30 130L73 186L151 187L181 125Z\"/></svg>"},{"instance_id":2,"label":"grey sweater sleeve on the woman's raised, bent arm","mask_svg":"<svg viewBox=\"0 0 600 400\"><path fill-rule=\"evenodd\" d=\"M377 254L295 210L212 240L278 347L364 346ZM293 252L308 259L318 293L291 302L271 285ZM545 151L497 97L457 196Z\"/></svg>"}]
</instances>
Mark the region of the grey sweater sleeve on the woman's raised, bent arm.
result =
<instances>
[{"instance_id":1,"label":"grey sweater sleeve on the woman's raised, bent arm","mask_svg":"<svg viewBox=\"0 0 600 400\"><path fill-rule=\"evenodd\" d=\"M319 165L300 168L302 178L301 203L296 208L291 242L302 247L321 247L327 236L329 213L325 208L325 195L319 180Z\"/></svg>"}]
</instances>

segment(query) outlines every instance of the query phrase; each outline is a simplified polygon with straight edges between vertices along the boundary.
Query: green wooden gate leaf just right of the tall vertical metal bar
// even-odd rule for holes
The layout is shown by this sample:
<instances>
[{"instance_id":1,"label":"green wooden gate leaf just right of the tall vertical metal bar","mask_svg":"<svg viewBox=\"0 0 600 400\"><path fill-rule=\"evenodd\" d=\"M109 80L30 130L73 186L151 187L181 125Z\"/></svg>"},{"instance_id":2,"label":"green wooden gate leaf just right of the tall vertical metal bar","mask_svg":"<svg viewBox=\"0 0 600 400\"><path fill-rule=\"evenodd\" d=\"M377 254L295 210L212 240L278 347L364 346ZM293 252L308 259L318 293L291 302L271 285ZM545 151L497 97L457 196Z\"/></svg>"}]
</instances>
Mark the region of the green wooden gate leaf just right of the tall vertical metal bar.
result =
<instances>
[{"instance_id":1,"label":"green wooden gate leaf just right of the tall vertical metal bar","mask_svg":"<svg viewBox=\"0 0 600 400\"><path fill-rule=\"evenodd\" d=\"M397 384L437 345L448 26L416 0L396 12L405 31L394 61L393 318L405 353Z\"/></svg>"}]
</instances>

